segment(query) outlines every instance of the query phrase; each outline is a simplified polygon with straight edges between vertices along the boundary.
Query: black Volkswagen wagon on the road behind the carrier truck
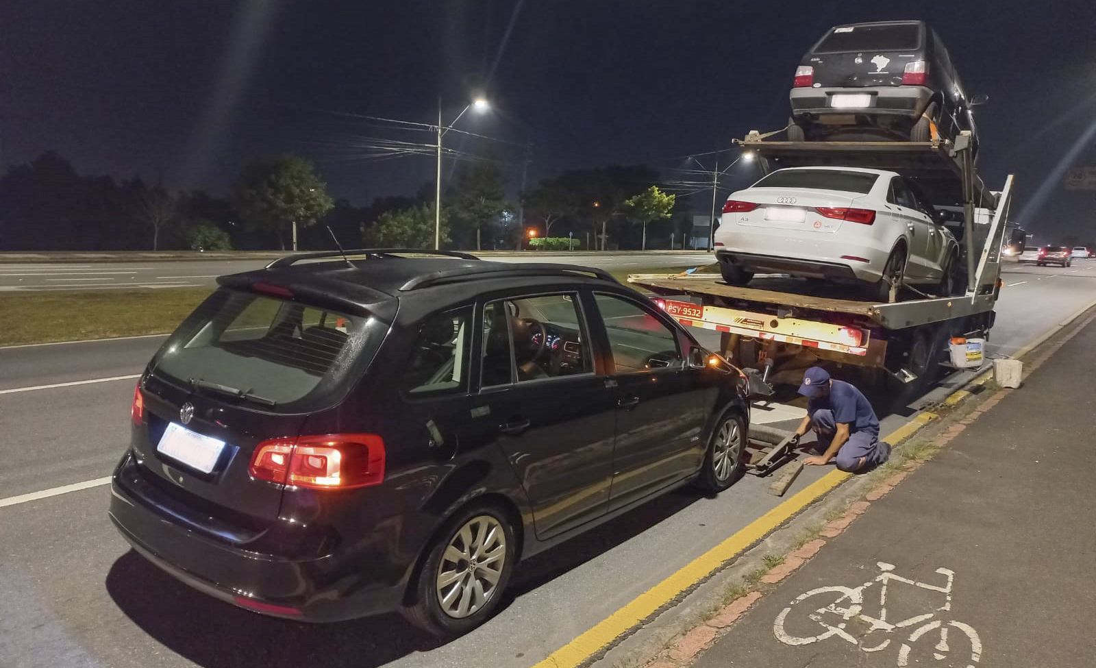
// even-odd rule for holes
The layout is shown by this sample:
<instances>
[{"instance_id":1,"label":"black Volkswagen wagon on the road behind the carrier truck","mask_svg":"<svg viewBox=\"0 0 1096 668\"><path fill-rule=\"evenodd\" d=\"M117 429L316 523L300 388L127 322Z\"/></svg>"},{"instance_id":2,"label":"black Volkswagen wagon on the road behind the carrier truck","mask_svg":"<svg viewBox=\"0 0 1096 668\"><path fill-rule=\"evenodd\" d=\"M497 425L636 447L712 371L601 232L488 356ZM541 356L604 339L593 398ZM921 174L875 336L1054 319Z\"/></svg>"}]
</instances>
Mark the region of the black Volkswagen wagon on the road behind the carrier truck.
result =
<instances>
[{"instance_id":1,"label":"black Volkswagen wagon on the road behind the carrier truck","mask_svg":"<svg viewBox=\"0 0 1096 668\"><path fill-rule=\"evenodd\" d=\"M737 479L744 378L604 271L351 252L218 279L141 375L110 516L180 580L463 632L518 559Z\"/></svg>"}]
</instances>

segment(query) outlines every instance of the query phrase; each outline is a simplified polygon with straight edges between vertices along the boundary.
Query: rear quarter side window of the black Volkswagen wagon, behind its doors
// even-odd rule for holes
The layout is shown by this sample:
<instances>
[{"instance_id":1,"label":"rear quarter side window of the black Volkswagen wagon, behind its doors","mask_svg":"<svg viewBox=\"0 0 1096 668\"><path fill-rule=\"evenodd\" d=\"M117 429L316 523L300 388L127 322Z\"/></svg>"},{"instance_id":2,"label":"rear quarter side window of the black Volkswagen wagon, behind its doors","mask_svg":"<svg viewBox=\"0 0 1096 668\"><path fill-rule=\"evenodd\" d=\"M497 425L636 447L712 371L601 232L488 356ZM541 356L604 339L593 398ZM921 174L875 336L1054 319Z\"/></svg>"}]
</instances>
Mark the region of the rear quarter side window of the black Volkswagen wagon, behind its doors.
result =
<instances>
[{"instance_id":1,"label":"rear quarter side window of the black Volkswagen wagon, behind its doors","mask_svg":"<svg viewBox=\"0 0 1096 668\"><path fill-rule=\"evenodd\" d=\"M403 371L410 394L461 392L468 387L472 308L466 306L426 318Z\"/></svg>"}]
</instances>

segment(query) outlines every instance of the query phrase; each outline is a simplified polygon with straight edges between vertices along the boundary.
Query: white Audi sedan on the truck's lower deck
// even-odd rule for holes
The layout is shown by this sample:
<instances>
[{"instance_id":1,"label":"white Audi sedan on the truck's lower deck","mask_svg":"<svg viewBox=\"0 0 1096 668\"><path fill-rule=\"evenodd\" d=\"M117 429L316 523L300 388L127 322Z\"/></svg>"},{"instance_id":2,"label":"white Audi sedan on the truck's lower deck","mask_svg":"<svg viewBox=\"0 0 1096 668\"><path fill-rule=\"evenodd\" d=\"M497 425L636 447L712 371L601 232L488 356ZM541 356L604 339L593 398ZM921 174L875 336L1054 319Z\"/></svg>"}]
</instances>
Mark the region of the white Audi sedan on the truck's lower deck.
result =
<instances>
[{"instance_id":1,"label":"white Audi sedan on the truck's lower deck","mask_svg":"<svg viewBox=\"0 0 1096 668\"><path fill-rule=\"evenodd\" d=\"M880 302L895 301L902 285L966 291L956 238L915 185L877 169L780 169L731 194L716 258L732 285L783 273L860 282Z\"/></svg>"}]
</instances>

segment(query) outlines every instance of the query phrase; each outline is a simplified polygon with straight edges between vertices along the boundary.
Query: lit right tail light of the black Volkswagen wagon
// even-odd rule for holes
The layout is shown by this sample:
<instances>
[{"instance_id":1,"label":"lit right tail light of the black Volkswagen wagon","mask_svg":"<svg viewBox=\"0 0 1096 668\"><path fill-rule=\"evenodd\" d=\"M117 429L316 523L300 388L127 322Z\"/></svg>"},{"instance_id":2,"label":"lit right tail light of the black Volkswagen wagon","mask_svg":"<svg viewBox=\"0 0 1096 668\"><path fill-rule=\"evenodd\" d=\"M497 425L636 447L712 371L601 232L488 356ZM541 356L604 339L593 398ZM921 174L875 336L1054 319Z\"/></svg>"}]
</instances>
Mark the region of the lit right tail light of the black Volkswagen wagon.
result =
<instances>
[{"instance_id":1,"label":"lit right tail light of the black Volkswagen wagon","mask_svg":"<svg viewBox=\"0 0 1096 668\"><path fill-rule=\"evenodd\" d=\"M255 446L251 475L311 489L353 489L385 479L385 442L372 433L272 439Z\"/></svg>"}]
</instances>

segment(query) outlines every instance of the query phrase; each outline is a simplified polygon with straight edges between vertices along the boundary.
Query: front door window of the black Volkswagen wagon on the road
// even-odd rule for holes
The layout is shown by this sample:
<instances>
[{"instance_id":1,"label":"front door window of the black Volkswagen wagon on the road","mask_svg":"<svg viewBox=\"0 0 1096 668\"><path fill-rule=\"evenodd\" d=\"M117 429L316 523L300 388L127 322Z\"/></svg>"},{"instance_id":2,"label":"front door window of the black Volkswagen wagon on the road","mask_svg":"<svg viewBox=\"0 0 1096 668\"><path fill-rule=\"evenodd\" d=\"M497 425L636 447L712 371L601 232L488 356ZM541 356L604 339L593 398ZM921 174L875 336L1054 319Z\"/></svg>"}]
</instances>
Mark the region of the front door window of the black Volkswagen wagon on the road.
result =
<instances>
[{"instance_id":1,"label":"front door window of the black Volkswagen wagon on the road","mask_svg":"<svg viewBox=\"0 0 1096 668\"><path fill-rule=\"evenodd\" d=\"M681 366L677 332L653 313L615 295L595 294L617 374Z\"/></svg>"}]
</instances>

